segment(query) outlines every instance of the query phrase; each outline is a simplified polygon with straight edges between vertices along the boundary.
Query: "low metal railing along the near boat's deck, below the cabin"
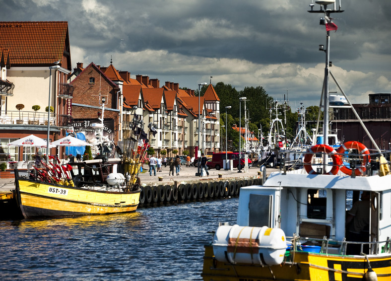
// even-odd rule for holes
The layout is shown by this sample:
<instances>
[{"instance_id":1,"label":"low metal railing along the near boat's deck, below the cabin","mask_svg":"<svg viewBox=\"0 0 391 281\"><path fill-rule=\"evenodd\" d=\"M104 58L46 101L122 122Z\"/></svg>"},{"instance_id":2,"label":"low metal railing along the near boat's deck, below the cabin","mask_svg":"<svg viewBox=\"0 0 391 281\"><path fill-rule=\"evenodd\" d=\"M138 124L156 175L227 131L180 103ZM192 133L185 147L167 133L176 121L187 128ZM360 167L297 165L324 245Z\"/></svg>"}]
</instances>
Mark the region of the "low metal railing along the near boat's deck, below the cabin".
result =
<instances>
[{"instance_id":1,"label":"low metal railing along the near boat's deck, below the cabin","mask_svg":"<svg viewBox=\"0 0 391 281\"><path fill-rule=\"evenodd\" d=\"M309 251L306 250L308 246L316 246L319 253L326 255L346 255L346 249L348 245L359 245L360 252L356 255L375 255L378 253L391 254L391 239L387 237L385 241L373 241L373 242L354 242L346 241L344 238L342 241L329 239L326 236L324 238L312 238L312 237L286 237L287 240L292 241L291 250L293 251ZM320 249L319 249L320 247ZM310 250L312 251L312 250ZM318 252L318 251L314 251ZM368 252L368 253L364 253Z\"/></svg>"}]
</instances>

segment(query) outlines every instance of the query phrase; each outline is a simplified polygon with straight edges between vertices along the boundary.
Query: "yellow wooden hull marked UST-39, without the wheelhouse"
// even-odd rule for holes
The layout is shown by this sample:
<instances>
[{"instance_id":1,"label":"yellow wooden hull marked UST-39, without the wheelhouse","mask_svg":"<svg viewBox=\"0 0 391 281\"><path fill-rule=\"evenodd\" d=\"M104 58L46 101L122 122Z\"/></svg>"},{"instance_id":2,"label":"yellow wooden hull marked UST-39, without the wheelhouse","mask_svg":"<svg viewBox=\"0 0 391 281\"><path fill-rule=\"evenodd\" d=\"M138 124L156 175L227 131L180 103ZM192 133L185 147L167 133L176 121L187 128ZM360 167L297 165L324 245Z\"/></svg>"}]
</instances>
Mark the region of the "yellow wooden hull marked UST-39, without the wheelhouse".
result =
<instances>
[{"instance_id":1,"label":"yellow wooden hull marked UST-39, without the wheelhouse","mask_svg":"<svg viewBox=\"0 0 391 281\"><path fill-rule=\"evenodd\" d=\"M25 218L130 212L137 209L140 196L140 189L113 192L15 181L17 203Z\"/></svg>"}]
</instances>

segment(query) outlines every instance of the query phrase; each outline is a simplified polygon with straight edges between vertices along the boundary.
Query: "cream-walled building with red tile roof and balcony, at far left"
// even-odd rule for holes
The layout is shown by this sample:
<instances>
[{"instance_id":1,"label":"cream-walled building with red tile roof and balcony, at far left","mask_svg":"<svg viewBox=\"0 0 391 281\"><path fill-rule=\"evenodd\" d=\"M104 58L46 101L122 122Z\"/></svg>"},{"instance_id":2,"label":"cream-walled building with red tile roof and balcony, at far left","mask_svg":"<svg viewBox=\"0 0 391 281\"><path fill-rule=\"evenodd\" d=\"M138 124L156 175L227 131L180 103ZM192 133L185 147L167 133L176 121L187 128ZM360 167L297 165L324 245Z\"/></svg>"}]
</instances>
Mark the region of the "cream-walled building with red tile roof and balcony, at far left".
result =
<instances>
[{"instance_id":1,"label":"cream-walled building with red tile roof and balcony, at far left","mask_svg":"<svg viewBox=\"0 0 391 281\"><path fill-rule=\"evenodd\" d=\"M0 49L0 86L7 81L13 84L12 95L1 95L1 142L31 134L47 139L48 123L51 141L63 137L71 120L67 101L73 90L67 83L71 71L67 22L0 22ZM54 109L49 121L45 111L49 108L48 93L50 106ZM17 110L17 104L23 104L24 108ZM34 111L33 106L39 109ZM35 149L30 152L22 149L3 147L2 151L10 153L14 160L23 160L35 153ZM60 154L62 152L60 149ZM0 153L0 160L2 157L4 155Z\"/></svg>"}]
</instances>

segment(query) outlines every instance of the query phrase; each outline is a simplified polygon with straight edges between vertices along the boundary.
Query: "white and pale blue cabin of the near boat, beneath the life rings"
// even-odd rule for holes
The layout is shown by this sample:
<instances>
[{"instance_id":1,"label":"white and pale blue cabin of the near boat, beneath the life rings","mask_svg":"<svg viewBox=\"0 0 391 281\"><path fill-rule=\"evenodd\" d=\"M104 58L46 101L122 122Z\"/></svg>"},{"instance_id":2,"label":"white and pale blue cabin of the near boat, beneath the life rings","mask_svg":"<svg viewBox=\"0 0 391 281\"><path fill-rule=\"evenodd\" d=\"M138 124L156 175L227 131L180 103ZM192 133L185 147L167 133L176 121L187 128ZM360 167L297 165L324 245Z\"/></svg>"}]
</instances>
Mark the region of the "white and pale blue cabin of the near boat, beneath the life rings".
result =
<instances>
[{"instance_id":1,"label":"white and pale blue cabin of the near boat, beneath the life rings","mask_svg":"<svg viewBox=\"0 0 391 281\"><path fill-rule=\"evenodd\" d=\"M272 173L263 186L240 191L237 223L281 228L286 236L346 237L346 214L362 191L371 194L368 241L385 241L391 233L389 176L309 175L302 169Z\"/></svg>"}]
</instances>

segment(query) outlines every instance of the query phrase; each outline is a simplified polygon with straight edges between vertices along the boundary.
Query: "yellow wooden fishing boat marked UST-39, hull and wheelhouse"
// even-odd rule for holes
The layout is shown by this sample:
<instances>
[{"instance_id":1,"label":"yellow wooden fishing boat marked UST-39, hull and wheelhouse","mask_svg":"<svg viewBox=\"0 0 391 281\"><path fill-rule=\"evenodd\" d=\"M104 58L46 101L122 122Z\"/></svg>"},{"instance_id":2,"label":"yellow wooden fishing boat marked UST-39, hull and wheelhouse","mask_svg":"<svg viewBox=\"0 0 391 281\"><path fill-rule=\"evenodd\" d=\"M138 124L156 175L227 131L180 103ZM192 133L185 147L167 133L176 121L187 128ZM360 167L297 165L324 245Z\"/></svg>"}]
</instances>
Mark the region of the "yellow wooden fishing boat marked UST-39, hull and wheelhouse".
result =
<instances>
[{"instance_id":1,"label":"yellow wooden fishing boat marked UST-39, hull and wheelhouse","mask_svg":"<svg viewBox=\"0 0 391 281\"><path fill-rule=\"evenodd\" d=\"M57 181L53 175L47 179L20 177L15 169L17 204L25 218L135 211L140 186L127 185L124 175L116 171L120 162L118 158L70 163L67 167L74 168L65 168L68 176Z\"/></svg>"}]
</instances>

